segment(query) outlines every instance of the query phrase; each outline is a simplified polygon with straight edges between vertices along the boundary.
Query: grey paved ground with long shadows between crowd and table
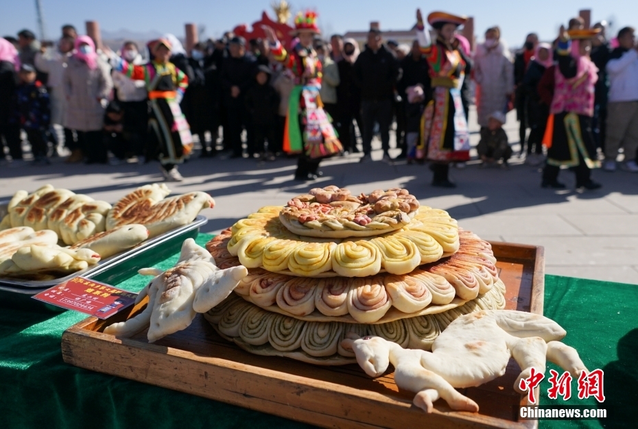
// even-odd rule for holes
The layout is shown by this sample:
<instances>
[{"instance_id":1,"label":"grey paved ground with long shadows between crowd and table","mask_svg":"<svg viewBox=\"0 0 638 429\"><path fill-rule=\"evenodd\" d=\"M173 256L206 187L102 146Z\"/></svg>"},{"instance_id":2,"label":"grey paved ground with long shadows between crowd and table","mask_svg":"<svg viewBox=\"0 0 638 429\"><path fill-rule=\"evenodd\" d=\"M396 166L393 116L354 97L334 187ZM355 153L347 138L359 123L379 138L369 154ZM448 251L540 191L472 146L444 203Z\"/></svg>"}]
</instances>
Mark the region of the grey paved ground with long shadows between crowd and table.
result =
<instances>
[{"instance_id":1,"label":"grey paved ground with long shadows between crowd and table","mask_svg":"<svg viewBox=\"0 0 638 429\"><path fill-rule=\"evenodd\" d=\"M474 114L470 123L476 122L473 118ZM518 140L512 113L506 130L510 141ZM476 130L472 137L475 145ZM379 147L379 142L375 145ZM381 151L375 151L373 160L380 158ZM520 160L513 160L509 171L479 169L477 162L470 162L466 169L451 171L458 188L442 190L429 186L432 173L427 167L380 161L359 164L358 159L352 155L324 162L324 176L303 184L292 180L294 160L260 164L248 159L193 158L180 169L185 181L169 187L174 193L211 193L217 206L204 212L210 219L204 232L215 232L261 206L284 204L311 187L336 184L359 193L402 186L422 204L448 210L462 227L483 238L545 246L547 273L638 284L638 175L595 171L594 179L604 187L579 194L573 191L569 171L561 173L568 190L555 192L541 189L538 167ZM58 159L48 167L0 167L0 200L19 189L33 191L51 183L115 201L140 184L160 180L156 163L69 166Z\"/></svg>"}]
</instances>

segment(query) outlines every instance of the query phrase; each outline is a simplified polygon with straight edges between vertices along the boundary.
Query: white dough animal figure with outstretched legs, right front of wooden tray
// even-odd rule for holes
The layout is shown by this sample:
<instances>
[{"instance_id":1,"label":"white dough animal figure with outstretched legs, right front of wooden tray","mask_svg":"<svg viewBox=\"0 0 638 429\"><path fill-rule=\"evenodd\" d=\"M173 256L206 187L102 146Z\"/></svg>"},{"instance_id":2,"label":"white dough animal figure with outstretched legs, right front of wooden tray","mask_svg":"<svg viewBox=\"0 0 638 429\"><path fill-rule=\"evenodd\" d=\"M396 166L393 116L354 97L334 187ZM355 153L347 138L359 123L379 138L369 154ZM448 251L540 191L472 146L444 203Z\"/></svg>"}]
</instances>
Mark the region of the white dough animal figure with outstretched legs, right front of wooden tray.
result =
<instances>
[{"instance_id":1,"label":"white dough animal figure with outstretched legs, right front of wooden tray","mask_svg":"<svg viewBox=\"0 0 638 429\"><path fill-rule=\"evenodd\" d=\"M558 323L529 312L482 310L450 323L432 344L432 352L403 349L379 336L348 333L341 343L352 350L368 376L379 377L394 366L394 381L416 393L414 405L432 413L442 397L453 410L477 412L479 407L454 388L476 387L502 376L510 356L523 369L514 388L532 367L545 373L545 360L569 371L575 379L587 368L578 352L560 343L567 334Z\"/></svg>"}]
</instances>

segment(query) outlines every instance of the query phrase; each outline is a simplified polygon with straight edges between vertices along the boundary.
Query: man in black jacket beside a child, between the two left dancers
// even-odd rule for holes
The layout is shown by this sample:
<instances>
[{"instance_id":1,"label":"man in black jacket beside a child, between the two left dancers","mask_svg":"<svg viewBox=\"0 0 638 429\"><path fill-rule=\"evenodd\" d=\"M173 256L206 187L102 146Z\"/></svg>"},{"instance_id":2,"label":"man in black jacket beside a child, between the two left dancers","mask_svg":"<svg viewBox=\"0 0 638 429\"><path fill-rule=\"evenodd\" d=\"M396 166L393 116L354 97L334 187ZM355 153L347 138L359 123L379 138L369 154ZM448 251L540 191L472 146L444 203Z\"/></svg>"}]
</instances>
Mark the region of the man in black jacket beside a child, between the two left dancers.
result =
<instances>
[{"instance_id":1,"label":"man in black jacket beside a child, between the two left dancers","mask_svg":"<svg viewBox=\"0 0 638 429\"><path fill-rule=\"evenodd\" d=\"M252 155L250 151L253 146L250 141L252 133L244 106L244 95L255 77L255 59L246 55L244 38L232 38L228 50L231 55L224 58L222 63L222 90L224 91L224 106L228 115L228 131L224 130L224 138L230 140L229 146L233 150L231 158L241 158L241 129L244 127L248 134L248 154Z\"/></svg>"}]
</instances>

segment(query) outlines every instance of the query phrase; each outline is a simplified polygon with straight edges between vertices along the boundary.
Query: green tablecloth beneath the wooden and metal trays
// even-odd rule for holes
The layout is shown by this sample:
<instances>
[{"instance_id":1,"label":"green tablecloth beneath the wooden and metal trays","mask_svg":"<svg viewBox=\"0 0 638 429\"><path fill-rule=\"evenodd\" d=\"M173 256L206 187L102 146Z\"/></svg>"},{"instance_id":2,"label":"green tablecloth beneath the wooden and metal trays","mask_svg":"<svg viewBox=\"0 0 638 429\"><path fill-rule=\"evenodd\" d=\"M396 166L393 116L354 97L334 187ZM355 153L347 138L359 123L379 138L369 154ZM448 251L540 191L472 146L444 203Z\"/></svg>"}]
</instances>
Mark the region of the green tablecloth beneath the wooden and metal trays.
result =
<instances>
[{"instance_id":1,"label":"green tablecloth beneath the wooden and metal trays","mask_svg":"<svg viewBox=\"0 0 638 429\"><path fill-rule=\"evenodd\" d=\"M200 234L203 245L211 236ZM177 255L156 267L174 265ZM99 279L98 279L99 280ZM147 280L135 275L118 286L139 291ZM541 428L633 428L638 403L635 310L638 286L547 275L545 315L568 332L565 343L578 349L589 369L605 371L605 421L541 421ZM1 304L0 304L1 305ZM2 428L301 428L305 425L140 382L67 365L62 332L84 315L67 311L0 307L0 427ZM550 365L550 367L552 367ZM542 403L547 398L546 380ZM576 380L572 383L576 392ZM578 400L569 404L595 404ZM559 403L559 402L556 402Z\"/></svg>"}]
</instances>

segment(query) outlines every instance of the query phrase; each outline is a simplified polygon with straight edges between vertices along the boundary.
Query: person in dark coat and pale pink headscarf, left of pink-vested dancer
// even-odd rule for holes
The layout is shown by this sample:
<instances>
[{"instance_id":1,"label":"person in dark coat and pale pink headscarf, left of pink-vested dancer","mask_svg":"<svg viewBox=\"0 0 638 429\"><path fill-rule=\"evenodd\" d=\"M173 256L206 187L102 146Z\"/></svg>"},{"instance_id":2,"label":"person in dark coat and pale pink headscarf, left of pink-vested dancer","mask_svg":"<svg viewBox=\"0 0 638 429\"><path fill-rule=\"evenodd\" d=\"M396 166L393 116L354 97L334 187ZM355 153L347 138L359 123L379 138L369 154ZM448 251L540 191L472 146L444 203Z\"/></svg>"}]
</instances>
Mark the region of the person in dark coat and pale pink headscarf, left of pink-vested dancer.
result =
<instances>
[{"instance_id":1,"label":"person in dark coat and pale pink headscarf, left of pink-vested dancer","mask_svg":"<svg viewBox=\"0 0 638 429\"><path fill-rule=\"evenodd\" d=\"M530 60L528 71L525 72L521 88L527 102L528 121L531 128L527 144L525 164L538 165L543 160L543 136L547 117L550 116L550 105L545 103L539 95L539 82L549 67L554 64L552 45L539 43L536 45L534 56ZM533 148L533 153L532 153Z\"/></svg>"}]
</instances>

